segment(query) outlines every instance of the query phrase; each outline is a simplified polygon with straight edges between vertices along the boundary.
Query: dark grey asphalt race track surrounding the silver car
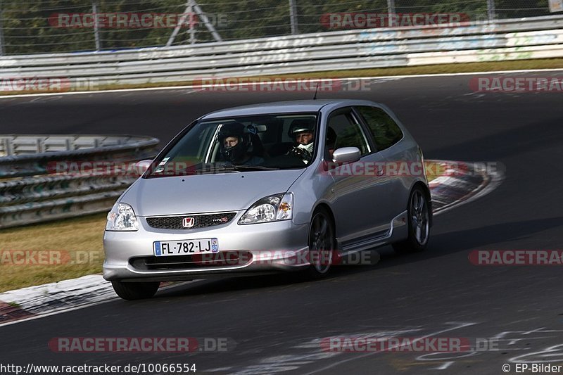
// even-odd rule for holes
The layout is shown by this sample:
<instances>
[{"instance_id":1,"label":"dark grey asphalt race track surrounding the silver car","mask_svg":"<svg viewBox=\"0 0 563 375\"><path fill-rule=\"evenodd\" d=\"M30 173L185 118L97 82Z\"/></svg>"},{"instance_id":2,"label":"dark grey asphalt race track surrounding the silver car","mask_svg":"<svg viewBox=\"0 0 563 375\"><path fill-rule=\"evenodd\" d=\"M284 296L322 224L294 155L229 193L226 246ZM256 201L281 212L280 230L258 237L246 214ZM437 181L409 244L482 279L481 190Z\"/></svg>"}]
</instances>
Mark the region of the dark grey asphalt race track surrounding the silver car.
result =
<instances>
[{"instance_id":1,"label":"dark grey asphalt race track surrounding the silver car","mask_svg":"<svg viewBox=\"0 0 563 375\"><path fill-rule=\"evenodd\" d=\"M523 73L519 73L523 75ZM528 75L548 76L555 73ZM505 181L436 217L429 249L382 248L372 266L339 267L322 281L295 275L200 281L156 298L112 300L0 327L0 362L195 363L215 374L502 374L517 362L563 364L561 266L476 266L472 250L562 249L562 93L489 93L470 76L376 80L364 92L390 106L426 158L496 161ZM136 91L0 99L0 132L148 134L163 142L198 115L312 93ZM228 186L225 186L228 193ZM52 352L56 337L229 338L227 352ZM334 336L448 337L498 350L328 352ZM562 371L563 372L563 371Z\"/></svg>"}]
</instances>

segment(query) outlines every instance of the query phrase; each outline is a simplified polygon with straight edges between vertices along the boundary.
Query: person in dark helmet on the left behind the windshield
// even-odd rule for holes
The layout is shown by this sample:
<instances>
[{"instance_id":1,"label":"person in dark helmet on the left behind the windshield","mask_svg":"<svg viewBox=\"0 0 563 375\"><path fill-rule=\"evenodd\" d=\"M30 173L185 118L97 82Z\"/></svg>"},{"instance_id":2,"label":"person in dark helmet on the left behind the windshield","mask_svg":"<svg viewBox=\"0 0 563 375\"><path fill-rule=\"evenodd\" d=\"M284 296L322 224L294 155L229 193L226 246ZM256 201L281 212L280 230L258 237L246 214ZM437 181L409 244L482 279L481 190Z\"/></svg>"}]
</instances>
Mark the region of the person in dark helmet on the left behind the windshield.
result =
<instances>
[{"instance_id":1,"label":"person in dark helmet on the left behind the windshield","mask_svg":"<svg viewBox=\"0 0 563 375\"><path fill-rule=\"evenodd\" d=\"M229 122L221 125L217 134L219 151L233 165L260 165L264 159L252 155L248 149L252 146L251 134L241 122Z\"/></svg>"}]
</instances>

